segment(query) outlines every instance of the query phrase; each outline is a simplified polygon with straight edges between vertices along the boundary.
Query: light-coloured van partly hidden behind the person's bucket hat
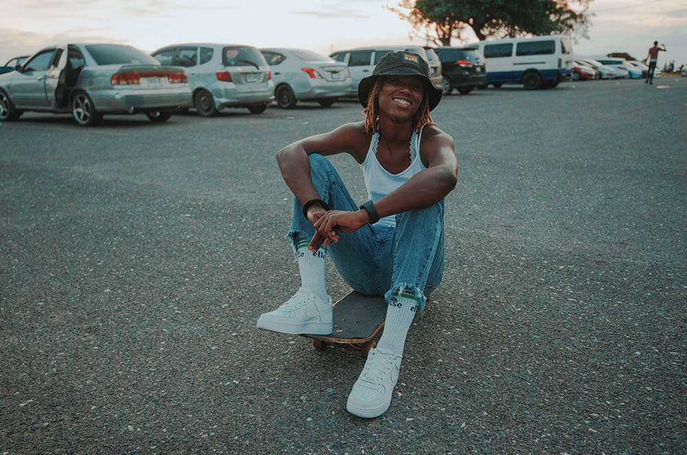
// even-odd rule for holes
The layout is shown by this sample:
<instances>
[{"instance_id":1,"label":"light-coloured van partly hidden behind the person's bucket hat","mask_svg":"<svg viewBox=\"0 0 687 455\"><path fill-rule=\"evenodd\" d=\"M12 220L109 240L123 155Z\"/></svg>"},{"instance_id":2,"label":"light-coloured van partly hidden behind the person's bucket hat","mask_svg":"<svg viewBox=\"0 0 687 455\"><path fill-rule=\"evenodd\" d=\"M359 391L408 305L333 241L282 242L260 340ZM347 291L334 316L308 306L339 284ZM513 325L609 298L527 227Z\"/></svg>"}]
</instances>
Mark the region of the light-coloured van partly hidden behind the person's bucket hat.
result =
<instances>
[{"instance_id":1,"label":"light-coloured van partly hidden behind the person's bucket hat","mask_svg":"<svg viewBox=\"0 0 687 455\"><path fill-rule=\"evenodd\" d=\"M422 46L357 47L355 49L333 52L329 54L329 56L337 60L337 62L346 63L352 78L348 96L357 98L360 80L372 74L372 70L377 62L379 62L380 58L385 56L388 52L395 51L413 52L424 58L429 64L429 71L431 72L429 78L434 85L441 87L441 63L431 63L427 56L427 51L425 51L425 48Z\"/></svg>"}]
</instances>

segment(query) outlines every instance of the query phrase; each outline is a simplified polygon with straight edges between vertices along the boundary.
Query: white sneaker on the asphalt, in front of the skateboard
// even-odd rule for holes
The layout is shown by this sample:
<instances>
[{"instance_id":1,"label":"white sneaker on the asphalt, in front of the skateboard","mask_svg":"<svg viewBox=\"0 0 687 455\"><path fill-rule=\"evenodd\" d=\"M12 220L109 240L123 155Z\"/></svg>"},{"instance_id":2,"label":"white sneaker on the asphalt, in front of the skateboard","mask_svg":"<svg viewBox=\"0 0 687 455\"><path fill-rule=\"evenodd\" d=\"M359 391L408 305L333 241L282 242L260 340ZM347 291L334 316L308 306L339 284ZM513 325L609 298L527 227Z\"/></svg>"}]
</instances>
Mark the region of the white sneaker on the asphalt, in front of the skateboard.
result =
<instances>
[{"instance_id":1,"label":"white sneaker on the asphalt, in front of the skateboard","mask_svg":"<svg viewBox=\"0 0 687 455\"><path fill-rule=\"evenodd\" d=\"M384 414L391 404L400 368L400 355L370 349L365 368L348 395L348 412L366 419Z\"/></svg>"}]
</instances>

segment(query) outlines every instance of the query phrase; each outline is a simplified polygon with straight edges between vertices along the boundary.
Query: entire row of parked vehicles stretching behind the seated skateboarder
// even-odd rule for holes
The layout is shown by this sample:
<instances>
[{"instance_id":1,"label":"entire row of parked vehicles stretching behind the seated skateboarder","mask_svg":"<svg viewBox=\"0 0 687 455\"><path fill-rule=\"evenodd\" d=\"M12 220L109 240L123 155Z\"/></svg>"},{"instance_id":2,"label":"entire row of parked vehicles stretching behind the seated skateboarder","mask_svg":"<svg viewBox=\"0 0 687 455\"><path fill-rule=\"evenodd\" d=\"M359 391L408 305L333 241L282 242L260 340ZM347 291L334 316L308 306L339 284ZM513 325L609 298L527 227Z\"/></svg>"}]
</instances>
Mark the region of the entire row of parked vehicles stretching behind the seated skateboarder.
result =
<instances>
[{"instance_id":1,"label":"entire row of parked vehicles stretching behind the seated skateboarder","mask_svg":"<svg viewBox=\"0 0 687 455\"><path fill-rule=\"evenodd\" d=\"M548 89L567 78L640 78L649 71L643 63L622 58L574 59L567 36L462 47L358 47L330 56L230 43L172 44L148 55L127 45L74 43L45 47L0 67L0 121L16 120L24 111L45 111L71 112L85 126L114 113L145 113L164 122L174 111L191 107L205 117L228 107L262 113L273 100L283 109L297 102L329 107L337 98L357 97L360 80L372 74L383 55L398 50L427 60L431 81L444 95L489 84Z\"/></svg>"}]
</instances>

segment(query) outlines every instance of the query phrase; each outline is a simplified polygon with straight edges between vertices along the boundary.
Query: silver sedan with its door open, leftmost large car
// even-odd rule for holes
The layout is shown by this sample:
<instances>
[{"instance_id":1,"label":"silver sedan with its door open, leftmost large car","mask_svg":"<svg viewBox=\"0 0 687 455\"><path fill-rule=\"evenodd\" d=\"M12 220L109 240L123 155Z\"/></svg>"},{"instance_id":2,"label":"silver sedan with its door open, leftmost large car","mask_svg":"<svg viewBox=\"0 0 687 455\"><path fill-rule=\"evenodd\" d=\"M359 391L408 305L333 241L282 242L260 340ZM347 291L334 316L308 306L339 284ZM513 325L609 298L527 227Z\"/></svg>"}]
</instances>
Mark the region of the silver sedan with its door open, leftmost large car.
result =
<instances>
[{"instance_id":1,"label":"silver sedan with its door open, leftmost large car","mask_svg":"<svg viewBox=\"0 0 687 455\"><path fill-rule=\"evenodd\" d=\"M183 68L160 65L126 45L46 47L16 71L0 74L0 121L42 111L71 112L84 126L98 124L107 113L146 113L153 122L164 122L190 104Z\"/></svg>"}]
</instances>

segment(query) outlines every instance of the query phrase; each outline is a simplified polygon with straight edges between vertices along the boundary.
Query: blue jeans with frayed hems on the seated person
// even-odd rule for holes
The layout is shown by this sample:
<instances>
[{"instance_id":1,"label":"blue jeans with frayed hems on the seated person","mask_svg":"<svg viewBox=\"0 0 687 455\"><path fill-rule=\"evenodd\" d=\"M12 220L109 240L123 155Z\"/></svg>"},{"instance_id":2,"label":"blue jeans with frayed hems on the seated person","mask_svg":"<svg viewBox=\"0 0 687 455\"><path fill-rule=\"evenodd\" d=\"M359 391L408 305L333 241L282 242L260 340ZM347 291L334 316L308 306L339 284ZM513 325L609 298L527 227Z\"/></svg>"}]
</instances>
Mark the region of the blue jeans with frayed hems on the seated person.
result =
<instances>
[{"instance_id":1,"label":"blue jeans with frayed hems on the seated person","mask_svg":"<svg viewBox=\"0 0 687 455\"><path fill-rule=\"evenodd\" d=\"M310 155L311 177L320 199L332 210L358 210L328 159ZM296 248L315 234L303 216L303 206L293 198L293 215L287 238ZM425 296L441 282L444 272L444 201L433 206L396 214L396 227L364 225L356 232L342 232L339 242L327 248L334 265L350 287L368 296L405 293L425 309Z\"/></svg>"}]
</instances>

